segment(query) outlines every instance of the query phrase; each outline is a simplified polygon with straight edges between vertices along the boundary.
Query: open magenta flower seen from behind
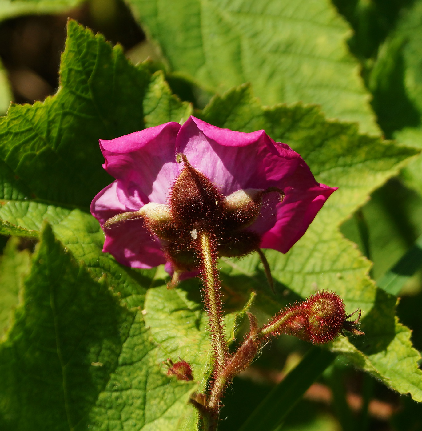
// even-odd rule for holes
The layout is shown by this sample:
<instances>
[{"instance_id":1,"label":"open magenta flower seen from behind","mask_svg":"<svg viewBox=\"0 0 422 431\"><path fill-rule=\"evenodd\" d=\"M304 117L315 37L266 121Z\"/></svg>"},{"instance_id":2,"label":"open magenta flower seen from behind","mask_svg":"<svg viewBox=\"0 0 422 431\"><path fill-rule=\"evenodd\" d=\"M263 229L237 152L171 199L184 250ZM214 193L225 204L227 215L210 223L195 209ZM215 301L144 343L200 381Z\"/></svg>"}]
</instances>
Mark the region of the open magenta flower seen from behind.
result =
<instances>
[{"instance_id":1,"label":"open magenta flower seen from behind","mask_svg":"<svg viewBox=\"0 0 422 431\"><path fill-rule=\"evenodd\" d=\"M183 200L184 187L189 189L190 183L186 178L182 181L181 173L189 171L197 175L203 190L209 191L206 199L211 203L207 201L207 205L215 200L218 207L211 212L207 209L207 217L214 217L225 238L219 245L223 256L240 256L254 247L286 253L336 190L317 183L298 153L273 141L263 130L243 133L220 129L195 117L183 125L169 122L111 141L100 140L100 147L104 169L116 178L91 204L91 212L101 226L118 214L139 212L148 203L160 204L156 207L168 211L169 220L176 217L175 190ZM177 162L178 153L183 154L184 164ZM242 210L236 209L234 216L233 211L227 215L230 202L237 205L239 199ZM254 206L253 215L240 220L247 205ZM172 222L172 227L166 227L163 233L142 216L130 218L105 229L104 252L133 268L183 261L177 253L187 250L183 244L195 237L196 225ZM183 229L188 232L180 233ZM230 229L236 231L234 236ZM177 239L177 253L169 249L172 238L182 238ZM243 245L247 241L253 243L250 250Z\"/></svg>"}]
</instances>

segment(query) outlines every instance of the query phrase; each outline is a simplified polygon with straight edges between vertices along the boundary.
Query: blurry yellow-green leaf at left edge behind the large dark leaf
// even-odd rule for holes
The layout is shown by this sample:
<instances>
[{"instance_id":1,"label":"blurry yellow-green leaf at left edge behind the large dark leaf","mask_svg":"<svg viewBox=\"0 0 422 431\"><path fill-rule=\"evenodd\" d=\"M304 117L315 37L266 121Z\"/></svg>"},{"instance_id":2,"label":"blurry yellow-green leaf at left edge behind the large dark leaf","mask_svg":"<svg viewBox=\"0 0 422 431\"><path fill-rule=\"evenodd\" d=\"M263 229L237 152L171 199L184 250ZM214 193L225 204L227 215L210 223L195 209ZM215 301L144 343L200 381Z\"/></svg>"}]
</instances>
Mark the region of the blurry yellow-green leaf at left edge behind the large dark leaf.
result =
<instances>
[{"instance_id":1,"label":"blurry yellow-green leaf at left edge behind the large dark leaf","mask_svg":"<svg viewBox=\"0 0 422 431\"><path fill-rule=\"evenodd\" d=\"M0 337L6 332L11 312L19 303L23 276L28 272L30 253L19 250L19 238L10 238L0 256Z\"/></svg>"}]
</instances>

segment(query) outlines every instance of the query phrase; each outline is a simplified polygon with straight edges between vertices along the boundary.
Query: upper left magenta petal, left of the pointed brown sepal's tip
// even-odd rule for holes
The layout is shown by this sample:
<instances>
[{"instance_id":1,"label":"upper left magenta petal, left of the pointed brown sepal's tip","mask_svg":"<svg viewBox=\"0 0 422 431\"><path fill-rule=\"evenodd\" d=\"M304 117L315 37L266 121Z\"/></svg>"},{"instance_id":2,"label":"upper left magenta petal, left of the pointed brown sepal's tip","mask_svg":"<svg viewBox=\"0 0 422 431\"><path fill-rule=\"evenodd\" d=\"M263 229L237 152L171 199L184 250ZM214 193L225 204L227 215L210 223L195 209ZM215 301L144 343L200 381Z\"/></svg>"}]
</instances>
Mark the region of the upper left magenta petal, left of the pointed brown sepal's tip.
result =
<instances>
[{"instance_id":1,"label":"upper left magenta petal, left of the pointed brown sepal's tip","mask_svg":"<svg viewBox=\"0 0 422 431\"><path fill-rule=\"evenodd\" d=\"M179 129L179 123L169 122L99 141L104 169L121 180L133 204L167 202L178 172L175 144Z\"/></svg>"}]
</instances>

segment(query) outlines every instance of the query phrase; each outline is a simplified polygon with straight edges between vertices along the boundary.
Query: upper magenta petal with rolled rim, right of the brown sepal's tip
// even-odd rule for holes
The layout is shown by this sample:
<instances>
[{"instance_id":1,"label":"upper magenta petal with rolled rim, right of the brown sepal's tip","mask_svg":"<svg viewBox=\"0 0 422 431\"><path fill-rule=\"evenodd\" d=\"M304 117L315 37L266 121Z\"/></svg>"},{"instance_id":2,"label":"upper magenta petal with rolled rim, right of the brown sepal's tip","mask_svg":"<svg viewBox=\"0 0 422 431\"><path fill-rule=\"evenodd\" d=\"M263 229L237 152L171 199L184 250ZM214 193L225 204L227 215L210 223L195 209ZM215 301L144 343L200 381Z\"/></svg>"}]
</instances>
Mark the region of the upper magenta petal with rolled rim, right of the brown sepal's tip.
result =
<instances>
[{"instance_id":1,"label":"upper magenta petal with rolled rim, right of the brown sepal's tip","mask_svg":"<svg viewBox=\"0 0 422 431\"><path fill-rule=\"evenodd\" d=\"M176 148L184 153L192 166L214 181L227 196L244 188L267 188L276 185L278 177L295 170L300 156L287 145L278 148L275 142L259 130L253 133L235 132L190 117L180 128ZM274 178L267 156L279 157Z\"/></svg>"}]
</instances>

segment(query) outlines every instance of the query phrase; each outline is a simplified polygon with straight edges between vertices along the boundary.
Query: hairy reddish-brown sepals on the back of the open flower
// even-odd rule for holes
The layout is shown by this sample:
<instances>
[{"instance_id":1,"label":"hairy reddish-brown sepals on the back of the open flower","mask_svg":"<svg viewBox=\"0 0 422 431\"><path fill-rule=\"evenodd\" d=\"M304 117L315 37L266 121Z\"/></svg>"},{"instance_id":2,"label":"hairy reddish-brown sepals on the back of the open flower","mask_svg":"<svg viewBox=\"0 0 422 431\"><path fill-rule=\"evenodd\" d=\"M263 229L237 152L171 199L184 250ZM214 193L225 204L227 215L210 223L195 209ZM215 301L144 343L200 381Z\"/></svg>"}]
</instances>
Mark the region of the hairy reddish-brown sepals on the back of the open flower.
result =
<instances>
[{"instance_id":1,"label":"hairy reddish-brown sepals on the back of the open flower","mask_svg":"<svg viewBox=\"0 0 422 431\"><path fill-rule=\"evenodd\" d=\"M104 227L142 217L146 228L158 237L168 260L177 270L192 270L199 265L200 233L215 244L218 256L240 257L259 249L261 237L249 226L257 219L265 194L284 193L276 188L238 190L224 197L217 186L196 170L183 154L184 164L171 189L168 205L148 203L137 212L118 214Z\"/></svg>"}]
</instances>

